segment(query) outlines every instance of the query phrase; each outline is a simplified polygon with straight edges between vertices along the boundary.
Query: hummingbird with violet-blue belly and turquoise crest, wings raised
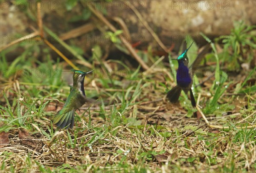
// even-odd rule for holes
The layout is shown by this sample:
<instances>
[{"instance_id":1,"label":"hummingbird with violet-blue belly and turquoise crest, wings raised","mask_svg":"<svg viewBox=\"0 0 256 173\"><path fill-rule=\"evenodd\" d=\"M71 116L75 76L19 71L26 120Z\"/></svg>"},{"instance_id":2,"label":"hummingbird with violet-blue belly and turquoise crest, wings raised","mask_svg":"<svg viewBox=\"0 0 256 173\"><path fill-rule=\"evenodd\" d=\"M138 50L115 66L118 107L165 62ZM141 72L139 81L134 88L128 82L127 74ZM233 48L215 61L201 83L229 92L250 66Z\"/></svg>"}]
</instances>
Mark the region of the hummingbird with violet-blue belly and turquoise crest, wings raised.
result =
<instances>
[{"instance_id":1,"label":"hummingbird with violet-blue belly and turquoise crest, wings raised","mask_svg":"<svg viewBox=\"0 0 256 173\"><path fill-rule=\"evenodd\" d=\"M189 46L189 48L192 46L192 44ZM198 67L198 64L203 59L204 55L209 51L210 44L206 45L205 48L198 54L195 61L192 63L190 67L189 59L187 57L187 51L189 50L189 48L187 48L177 59L173 59L177 60L179 65L176 75L177 85L167 93L167 98L169 99L170 102L176 103L179 99L182 90L184 91L185 94L189 92L191 104L195 108L195 97L191 89L193 84L193 75ZM196 115L195 112L194 115Z\"/></svg>"}]
</instances>

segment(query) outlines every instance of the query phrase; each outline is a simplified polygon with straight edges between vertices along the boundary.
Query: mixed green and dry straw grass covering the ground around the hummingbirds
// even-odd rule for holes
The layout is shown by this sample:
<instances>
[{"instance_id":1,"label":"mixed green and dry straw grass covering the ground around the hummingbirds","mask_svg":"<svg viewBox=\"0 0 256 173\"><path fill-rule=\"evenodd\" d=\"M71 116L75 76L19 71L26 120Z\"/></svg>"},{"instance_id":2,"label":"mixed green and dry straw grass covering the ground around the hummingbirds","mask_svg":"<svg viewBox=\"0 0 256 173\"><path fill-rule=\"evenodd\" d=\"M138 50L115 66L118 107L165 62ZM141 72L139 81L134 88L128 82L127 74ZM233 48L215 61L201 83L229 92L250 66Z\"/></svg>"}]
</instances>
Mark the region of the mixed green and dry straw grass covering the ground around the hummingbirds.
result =
<instances>
[{"instance_id":1,"label":"mixed green and dry straw grass covering the ground around the hummingbirds","mask_svg":"<svg viewBox=\"0 0 256 173\"><path fill-rule=\"evenodd\" d=\"M0 147L0 172L254 172L256 130L239 127L255 126L252 81L256 68L232 76L228 67L232 56L239 56L238 47L244 50L250 46L246 61L252 60L250 50L255 43L244 38L255 35L244 35L248 29L242 24L236 27L240 29L235 28L230 37L237 41L235 45L224 45L217 51L212 43L214 51L207 54L204 67L215 72L213 77L207 79L202 74L193 86L196 98L201 95L198 102L208 121L229 129L209 128L202 119L191 117L186 94L177 105L163 99L176 85L170 79L169 64L159 62L144 75L140 66L110 60L118 69L110 73L108 63L101 61L101 51L95 51L95 72L88 75L85 92L102 104L84 105L76 112L73 129L56 130L51 117L62 108L70 91L67 81L72 74L63 72L68 64L52 60L49 48L41 50L36 43L19 44L26 51L13 62L6 60L13 47L2 51L0 135L9 133L9 145ZM236 38L239 32L243 35ZM228 54L233 48L236 54ZM43 54L40 62L33 56L36 53ZM157 57L148 61L154 64ZM170 60L170 64L177 69L175 62ZM206 81L204 85L198 85L202 81Z\"/></svg>"}]
</instances>

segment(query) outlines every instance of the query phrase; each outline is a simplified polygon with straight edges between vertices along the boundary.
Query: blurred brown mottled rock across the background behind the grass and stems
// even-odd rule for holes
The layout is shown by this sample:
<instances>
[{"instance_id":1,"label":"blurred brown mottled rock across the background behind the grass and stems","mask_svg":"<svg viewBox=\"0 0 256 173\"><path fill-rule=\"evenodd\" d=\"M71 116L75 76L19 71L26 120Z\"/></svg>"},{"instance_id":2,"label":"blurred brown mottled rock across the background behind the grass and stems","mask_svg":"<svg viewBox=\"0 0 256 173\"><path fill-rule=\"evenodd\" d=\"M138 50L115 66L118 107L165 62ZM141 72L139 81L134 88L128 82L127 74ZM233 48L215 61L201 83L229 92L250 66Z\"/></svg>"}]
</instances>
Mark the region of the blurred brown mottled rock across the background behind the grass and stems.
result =
<instances>
[{"instance_id":1,"label":"blurred brown mottled rock across the background behind the grass and stems","mask_svg":"<svg viewBox=\"0 0 256 173\"><path fill-rule=\"evenodd\" d=\"M14 41L19 35L32 33L32 27L37 28L37 22L32 20L33 17L35 19L37 17L35 2L29 0L23 4L24 1L0 1L1 45ZM87 6L91 6L92 1L78 1L70 11L67 10L66 3L67 1L61 0L41 1L43 25L58 36L87 23L96 23L96 25L100 23L99 20L95 20L96 17L74 21L74 17L81 17L84 11L89 10ZM99 11L105 13L117 29L122 27L113 20L113 17L121 18L130 32L130 43L140 42L138 48L141 49L151 45L152 48L162 50L132 9L139 11L143 20L149 24L167 48L175 43L176 50L186 35L191 35L198 44L204 44L205 40L201 37L201 32L214 38L230 34L234 21L242 20L248 25L256 24L256 1L254 0L113 0L112 2L98 1L95 5ZM101 26L101 29L108 31L105 26ZM65 41L69 43L70 40L74 40L72 44L76 44L84 51L90 51L95 44L102 46L112 44L97 27L90 33L82 33L76 38Z\"/></svg>"}]
</instances>

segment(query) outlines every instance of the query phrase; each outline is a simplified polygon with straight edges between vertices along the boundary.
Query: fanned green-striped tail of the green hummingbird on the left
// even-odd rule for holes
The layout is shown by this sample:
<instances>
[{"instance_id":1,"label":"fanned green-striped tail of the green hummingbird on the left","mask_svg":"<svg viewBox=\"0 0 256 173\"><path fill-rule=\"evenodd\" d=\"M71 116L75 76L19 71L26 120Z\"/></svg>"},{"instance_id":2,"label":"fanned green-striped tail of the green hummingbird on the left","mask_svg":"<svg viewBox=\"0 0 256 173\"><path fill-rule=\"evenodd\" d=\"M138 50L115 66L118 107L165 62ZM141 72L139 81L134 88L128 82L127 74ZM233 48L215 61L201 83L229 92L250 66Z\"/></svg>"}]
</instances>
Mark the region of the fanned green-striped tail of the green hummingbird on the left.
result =
<instances>
[{"instance_id":1,"label":"fanned green-striped tail of the green hummingbird on the left","mask_svg":"<svg viewBox=\"0 0 256 173\"><path fill-rule=\"evenodd\" d=\"M69 111L67 113L58 112L53 118L53 123L59 128L73 128L74 127L74 114L75 111Z\"/></svg>"}]
</instances>

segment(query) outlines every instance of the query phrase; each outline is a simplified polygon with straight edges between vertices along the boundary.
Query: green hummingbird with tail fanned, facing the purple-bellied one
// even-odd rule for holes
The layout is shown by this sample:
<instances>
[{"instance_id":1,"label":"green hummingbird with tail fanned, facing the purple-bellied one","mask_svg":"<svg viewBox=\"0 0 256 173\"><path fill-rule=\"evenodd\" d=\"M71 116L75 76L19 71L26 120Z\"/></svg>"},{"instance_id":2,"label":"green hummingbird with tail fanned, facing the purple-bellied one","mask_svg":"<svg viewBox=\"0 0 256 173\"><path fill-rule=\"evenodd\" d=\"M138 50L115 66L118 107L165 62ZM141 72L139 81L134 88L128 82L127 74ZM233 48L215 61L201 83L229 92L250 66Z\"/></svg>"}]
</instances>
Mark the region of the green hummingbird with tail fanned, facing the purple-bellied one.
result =
<instances>
[{"instance_id":1,"label":"green hummingbird with tail fanned, facing the purple-bellied one","mask_svg":"<svg viewBox=\"0 0 256 173\"><path fill-rule=\"evenodd\" d=\"M71 70L73 74L73 87L67 97L64 107L54 115L53 123L59 128L73 128L75 111L79 109L88 99L84 93L84 77L93 71L83 72Z\"/></svg>"}]
</instances>

